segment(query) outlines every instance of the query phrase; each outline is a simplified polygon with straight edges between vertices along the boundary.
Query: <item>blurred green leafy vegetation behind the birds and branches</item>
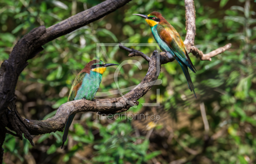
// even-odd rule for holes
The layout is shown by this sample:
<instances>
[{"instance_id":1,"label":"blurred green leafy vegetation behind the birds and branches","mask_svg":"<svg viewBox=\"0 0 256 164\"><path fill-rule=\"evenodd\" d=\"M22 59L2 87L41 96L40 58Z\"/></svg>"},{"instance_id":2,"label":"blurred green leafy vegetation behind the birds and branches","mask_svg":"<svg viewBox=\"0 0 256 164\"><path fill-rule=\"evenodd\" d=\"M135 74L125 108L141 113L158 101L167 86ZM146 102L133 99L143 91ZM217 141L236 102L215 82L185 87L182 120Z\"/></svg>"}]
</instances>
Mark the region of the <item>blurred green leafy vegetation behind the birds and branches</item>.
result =
<instances>
[{"instance_id":1,"label":"blurred green leafy vegetation behind the birds and branches","mask_svg":"<svg viewBox=\"0 0 256 164\"><path fill-rule=\"evenodd\" d=\"M31 29L50 27L100 2L1 0L0 63ZM26 139L20 141L7 134L4 163L256 163L256 3L195 0L195 7L195 44L201 51L208 53L232 43L231 49L211 62L190 55L198 70L196 74L190 71L197 99L173 61L162 66L159 79L163 83L139 100L155 103L156 89L160 89L160 106L140 104L128 111L160 115L159 120L99 120L96 113L77 113L65 149L60 149L62 132L34 136L34 147ZM45 44L44 51L28 61L15 91L20 115L35 120L52 117L67 101L76 75L95 59L96 43L155 43L145 20L132 15L153 11L161 12L185 38L183 0L132 0L104 18ZM150 56L156 48L136 49ZM100 54L105 63L136 59L142 64L142 70L135 65L121 69L120 88L138 84L147 72L144 59L129 58L118 47L101 47ZM107 69L99 91L117 88L114 71ZM205 107L209 131L204 128L200 106L201 110Z\"/></svg>"}]
</instances>

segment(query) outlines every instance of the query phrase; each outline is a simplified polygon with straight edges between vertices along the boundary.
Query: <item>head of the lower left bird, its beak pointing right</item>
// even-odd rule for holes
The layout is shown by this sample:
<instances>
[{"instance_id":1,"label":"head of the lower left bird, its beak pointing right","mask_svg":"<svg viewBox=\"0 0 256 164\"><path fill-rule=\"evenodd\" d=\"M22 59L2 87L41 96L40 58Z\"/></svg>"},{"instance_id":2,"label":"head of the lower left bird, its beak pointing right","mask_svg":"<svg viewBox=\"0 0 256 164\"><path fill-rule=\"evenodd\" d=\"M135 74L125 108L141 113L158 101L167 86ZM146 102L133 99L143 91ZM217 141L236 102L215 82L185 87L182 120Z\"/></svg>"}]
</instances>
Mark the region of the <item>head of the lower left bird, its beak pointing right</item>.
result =
<instances>
[{"instance_id":1,"label":"head of the lower left bird, its beak pointing right","mask_svg":"<svg viewBox=\"0 0 256 164\"><path fill-rule=\"evenodd\" d=\"M105 64L102 60L94 59L86 64L84 67L87 73L91 71L103 74L108 66L118 66L118 64Z\"/></svg>"}]
</instances>

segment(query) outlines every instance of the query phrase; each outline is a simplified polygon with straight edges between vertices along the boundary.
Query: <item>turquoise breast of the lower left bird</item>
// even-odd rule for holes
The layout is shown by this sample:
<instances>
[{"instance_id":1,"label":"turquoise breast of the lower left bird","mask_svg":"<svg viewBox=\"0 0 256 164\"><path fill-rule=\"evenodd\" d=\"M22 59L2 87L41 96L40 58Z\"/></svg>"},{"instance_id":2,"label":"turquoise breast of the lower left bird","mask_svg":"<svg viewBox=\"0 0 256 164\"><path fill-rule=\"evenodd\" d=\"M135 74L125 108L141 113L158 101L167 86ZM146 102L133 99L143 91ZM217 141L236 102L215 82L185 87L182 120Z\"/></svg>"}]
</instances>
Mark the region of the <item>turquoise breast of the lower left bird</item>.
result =
<instances>
[{"instance_id":1,"label":"turquoise breast of the lower left bird","mask_svg":"<svg viewBox=\"0 0 256 164\"><path fill-rule=\"evenodd\" d=\"M92 100L94 94L98 91L100 87L100 82L102 79L102 74L91 71L90 74L84 76L82 85L77 91L75 100L80 100L85 98L86 100Z\"/></svg>"}]
</instances>

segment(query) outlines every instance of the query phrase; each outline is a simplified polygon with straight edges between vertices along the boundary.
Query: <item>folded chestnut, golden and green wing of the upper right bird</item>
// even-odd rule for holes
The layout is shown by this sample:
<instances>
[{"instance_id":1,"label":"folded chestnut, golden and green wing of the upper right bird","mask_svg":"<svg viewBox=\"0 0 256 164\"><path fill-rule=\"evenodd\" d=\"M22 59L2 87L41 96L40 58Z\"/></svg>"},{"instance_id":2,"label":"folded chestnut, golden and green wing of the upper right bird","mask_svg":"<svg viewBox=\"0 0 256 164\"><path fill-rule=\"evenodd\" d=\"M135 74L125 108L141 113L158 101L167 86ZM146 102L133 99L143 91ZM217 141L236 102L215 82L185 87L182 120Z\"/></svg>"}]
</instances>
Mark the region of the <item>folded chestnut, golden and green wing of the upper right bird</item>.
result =
<instances>
[{"instance_id":1,"label":"folded chestnut, golden and green wing of the upper right bird","mask_svg":"<svg viewBox=\"0 0 256 164\"><path fill-rule=\"evenodd\" d=\"M186 46L175 28L170 24L159 24L157 25L157 33L173 53L193 72L195 72L196 69L188 56Z\"/></svg>"}]
</instances>

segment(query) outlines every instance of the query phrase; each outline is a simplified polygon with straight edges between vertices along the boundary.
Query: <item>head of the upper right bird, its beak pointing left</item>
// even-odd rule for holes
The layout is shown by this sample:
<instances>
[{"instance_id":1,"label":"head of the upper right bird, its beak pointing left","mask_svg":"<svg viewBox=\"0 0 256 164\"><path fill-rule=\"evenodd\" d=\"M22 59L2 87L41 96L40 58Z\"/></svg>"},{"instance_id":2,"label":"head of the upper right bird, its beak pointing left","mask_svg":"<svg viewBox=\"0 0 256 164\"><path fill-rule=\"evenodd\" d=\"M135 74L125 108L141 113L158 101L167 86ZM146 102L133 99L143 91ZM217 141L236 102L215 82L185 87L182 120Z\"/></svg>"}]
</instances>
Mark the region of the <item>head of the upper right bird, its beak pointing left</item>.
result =
<instances>
[{"instance_id":1,"label":"head of the upper right bird, its beak pointing left","mask_svg":"<svg viewBox=\"0 0 256 164\"><path fill-rule=\"evenodd\" d=\"M146 22L149 24L150 27L156 26L159 24L159 22L165 20L164 17L162 17L162 14L160 12L151 12L148 16L143 14L132 14L132 15L138 15L146 19Z\"/></svg>"}]
</instances>

